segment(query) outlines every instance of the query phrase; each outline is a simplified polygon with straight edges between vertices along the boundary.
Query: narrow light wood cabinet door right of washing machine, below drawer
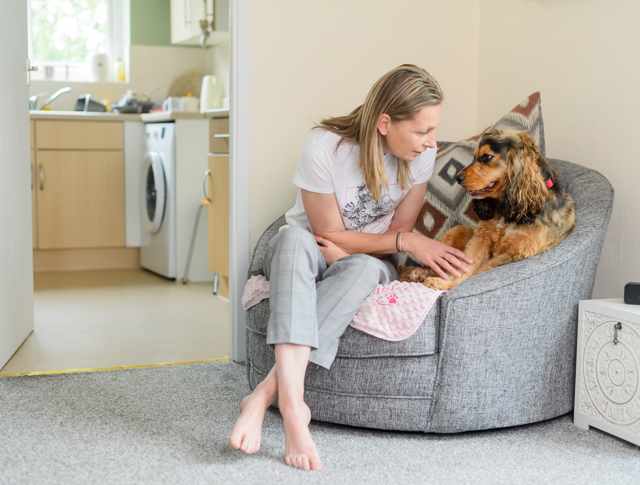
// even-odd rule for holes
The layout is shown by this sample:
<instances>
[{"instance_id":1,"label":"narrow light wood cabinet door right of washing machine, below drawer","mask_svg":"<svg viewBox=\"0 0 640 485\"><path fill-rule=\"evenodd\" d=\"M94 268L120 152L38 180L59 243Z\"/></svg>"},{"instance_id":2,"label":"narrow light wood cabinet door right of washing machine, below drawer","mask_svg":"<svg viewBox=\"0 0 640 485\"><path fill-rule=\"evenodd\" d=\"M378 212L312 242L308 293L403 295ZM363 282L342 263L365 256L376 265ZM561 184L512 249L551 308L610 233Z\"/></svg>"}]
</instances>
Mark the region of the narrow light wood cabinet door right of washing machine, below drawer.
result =
<instances>
[{"instance_id":1,"label":"narrow light wood cabinet door right of washing machine, below drawer","mask_svg":"<svg viewBox=\"0 0 640 485\"><path fill-rule=\"evenodd\" d=\"M229 156L209 156L209 271L229 276Z\"/></svg>"}]
</instances>

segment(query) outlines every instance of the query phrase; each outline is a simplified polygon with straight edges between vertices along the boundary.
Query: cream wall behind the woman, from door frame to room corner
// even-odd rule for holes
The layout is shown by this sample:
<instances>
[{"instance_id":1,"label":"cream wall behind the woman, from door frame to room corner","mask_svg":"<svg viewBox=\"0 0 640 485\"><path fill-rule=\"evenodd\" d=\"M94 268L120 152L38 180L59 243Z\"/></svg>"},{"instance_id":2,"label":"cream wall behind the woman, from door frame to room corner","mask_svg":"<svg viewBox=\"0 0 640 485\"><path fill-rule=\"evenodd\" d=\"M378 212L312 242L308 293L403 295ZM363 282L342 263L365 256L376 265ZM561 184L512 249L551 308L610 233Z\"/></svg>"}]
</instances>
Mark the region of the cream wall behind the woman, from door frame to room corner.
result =
<instances>
[{"instance_id":1,"label":"cream wall behind the woman, from door frame to room corner","mask_svg":"<svg viewBox=\"0 0 640 485\"><path fill-rule=\"evenodd\" d=\"M418 64L445 92L440 140L476 128L479 0L251 3L251 248L294 203L300 149L391 68Z\"/></svg>"}]
</instances>

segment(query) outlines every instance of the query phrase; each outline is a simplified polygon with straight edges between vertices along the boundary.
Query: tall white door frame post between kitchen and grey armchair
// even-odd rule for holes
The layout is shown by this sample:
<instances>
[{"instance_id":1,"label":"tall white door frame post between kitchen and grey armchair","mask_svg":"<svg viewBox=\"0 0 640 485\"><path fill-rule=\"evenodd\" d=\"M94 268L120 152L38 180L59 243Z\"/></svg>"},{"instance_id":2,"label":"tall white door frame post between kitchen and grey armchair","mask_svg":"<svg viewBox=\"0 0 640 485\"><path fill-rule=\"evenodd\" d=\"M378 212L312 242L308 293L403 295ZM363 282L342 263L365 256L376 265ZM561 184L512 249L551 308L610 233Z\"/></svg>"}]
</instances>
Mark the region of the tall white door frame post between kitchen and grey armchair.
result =
<instances>
[{"instance_id":1,"label":"tall white door frame post between kitchen and grey armchair","mask_svg":"<svg viewBox=\"0 0 640 485\"><path fill-rule=\"evenodd\" d=\"M231 0L230 7L229 353L231 360L244 362L245 310L241 299L250 258L251 0Z\"/></svg>"}]
</instances>

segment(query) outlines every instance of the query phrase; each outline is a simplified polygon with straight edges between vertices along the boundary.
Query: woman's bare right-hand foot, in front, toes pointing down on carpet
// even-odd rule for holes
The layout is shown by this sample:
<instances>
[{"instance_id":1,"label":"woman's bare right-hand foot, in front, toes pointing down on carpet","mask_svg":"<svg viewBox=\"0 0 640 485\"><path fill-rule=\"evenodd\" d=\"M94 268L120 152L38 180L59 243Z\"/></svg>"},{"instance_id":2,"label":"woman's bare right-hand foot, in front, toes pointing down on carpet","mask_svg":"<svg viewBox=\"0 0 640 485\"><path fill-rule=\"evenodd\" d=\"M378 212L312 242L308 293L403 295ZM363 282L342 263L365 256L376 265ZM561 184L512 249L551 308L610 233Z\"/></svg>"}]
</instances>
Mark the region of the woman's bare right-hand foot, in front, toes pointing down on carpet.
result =
<instances>
[{"instance_id":1,"label":"woman's bare right-hand foot, in front, toes pointing down on carpet","mask_svg":"<svg viewBox=\"0 0 640 485\"><path fill-rule=\"evenodd\" d=\"M322 461L309 433L309 406L280 408L284 418L285 457L287 465L302 470L321 470Z\"/></svg>"}]
</instances>

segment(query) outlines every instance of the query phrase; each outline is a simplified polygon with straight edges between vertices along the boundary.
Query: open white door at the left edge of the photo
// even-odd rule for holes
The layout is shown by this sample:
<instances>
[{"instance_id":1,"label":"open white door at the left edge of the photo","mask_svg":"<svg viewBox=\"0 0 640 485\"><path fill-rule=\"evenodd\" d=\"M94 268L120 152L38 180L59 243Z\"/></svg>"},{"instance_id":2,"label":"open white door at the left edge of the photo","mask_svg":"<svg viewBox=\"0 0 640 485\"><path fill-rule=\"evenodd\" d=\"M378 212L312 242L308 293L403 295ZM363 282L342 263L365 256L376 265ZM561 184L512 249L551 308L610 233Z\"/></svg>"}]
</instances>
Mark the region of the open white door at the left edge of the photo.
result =
<instances>
[{"instance_id":1,"label":"open white door at the left edge of the photo","mask_svg":"<svg viewBox=\"0 0 640 485\"><path fill-rule=\"evenodd\" d=\"M33 331L27 1L0 0L0 368Z\"/></svg>"}]
</instances>

